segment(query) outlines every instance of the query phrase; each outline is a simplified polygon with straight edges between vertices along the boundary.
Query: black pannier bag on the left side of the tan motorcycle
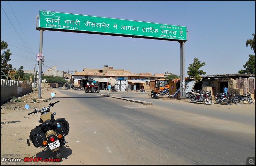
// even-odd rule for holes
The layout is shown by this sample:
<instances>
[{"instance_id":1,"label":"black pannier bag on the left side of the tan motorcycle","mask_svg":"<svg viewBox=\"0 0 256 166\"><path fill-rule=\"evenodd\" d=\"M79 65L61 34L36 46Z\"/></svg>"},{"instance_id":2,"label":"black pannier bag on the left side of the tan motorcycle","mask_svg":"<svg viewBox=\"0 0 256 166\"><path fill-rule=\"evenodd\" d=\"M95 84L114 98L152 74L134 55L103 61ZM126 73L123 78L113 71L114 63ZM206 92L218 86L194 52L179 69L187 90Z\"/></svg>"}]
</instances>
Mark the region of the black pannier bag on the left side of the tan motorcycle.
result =
<instances>
[{"instance_id":1,"label":"black pannier bag on the left side of the tan motorcycle","mask_svg":"<svg viewBox=\"0 0 256 166\"><path fill-rule=\"evenodd\" d=\"M46 135L41 128L41 124L36 126L36 128L32 129L29 138L27 140L27 144L29 146L29 140L33 143L36 148L43 147L43 141L47 141Z\"/></svg>"}]
</instances>

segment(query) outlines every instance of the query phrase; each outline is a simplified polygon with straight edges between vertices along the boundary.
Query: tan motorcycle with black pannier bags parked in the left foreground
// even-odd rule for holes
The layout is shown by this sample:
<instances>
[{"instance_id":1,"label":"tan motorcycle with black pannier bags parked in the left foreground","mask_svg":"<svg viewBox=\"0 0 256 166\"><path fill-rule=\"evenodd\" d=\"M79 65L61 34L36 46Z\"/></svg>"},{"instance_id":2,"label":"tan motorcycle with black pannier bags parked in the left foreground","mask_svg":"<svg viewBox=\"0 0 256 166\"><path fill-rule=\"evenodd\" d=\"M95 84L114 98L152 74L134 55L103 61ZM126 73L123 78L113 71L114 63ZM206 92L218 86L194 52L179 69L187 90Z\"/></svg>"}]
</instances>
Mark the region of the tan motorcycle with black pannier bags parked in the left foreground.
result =
<instances>
[{"instance_id":1,"label":"tan motorcycle with black pannier bags parked in the left foreground","mask_svg":"<svg viewBox=\"0 0 256 166\"><path fill-rule=\"evenodd\" d=\"M54 97L55 93L52 92L51 96ZM66 144L65 137L69 132L69 124L65 118L54 119L56 112L50 112L50 107L53 107L60 101L51 103L52 97L48 108L43 107L42 110L33 108L35 110L28 113L30 115L40 112L41 116L38 122L41 122L41 124L31 130L27 144L30 146L30 140L36 148L45 148L43 151L50 148L54 152L55 158L61 159L60 148L63 148L63 145ZM29 107L28 104L25 105L26 109L29 109Z\"/></svg>"}]
</instances>

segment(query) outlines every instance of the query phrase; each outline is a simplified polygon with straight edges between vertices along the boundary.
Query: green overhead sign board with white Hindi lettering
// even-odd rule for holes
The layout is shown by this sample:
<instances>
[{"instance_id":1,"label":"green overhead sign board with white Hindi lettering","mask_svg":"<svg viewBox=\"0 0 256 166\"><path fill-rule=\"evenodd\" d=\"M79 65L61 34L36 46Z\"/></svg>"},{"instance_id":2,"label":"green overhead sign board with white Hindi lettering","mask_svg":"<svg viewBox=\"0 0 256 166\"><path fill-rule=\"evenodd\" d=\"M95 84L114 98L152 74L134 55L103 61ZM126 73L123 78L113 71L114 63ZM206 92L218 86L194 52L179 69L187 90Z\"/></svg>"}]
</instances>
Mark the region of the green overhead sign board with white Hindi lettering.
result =
<instances>
[{"instance_id":1,"label":"green overhead sign board with white Hindi lettering","mask_svg":"<svg viewBox=\"0 0 256 166\"><path fill-rule=\"evenodd\" d=\"M187 27L117 18L40 11L39 27L100 34L149 37L164 40L187 40Z\"/></svg>"}]
</instances>

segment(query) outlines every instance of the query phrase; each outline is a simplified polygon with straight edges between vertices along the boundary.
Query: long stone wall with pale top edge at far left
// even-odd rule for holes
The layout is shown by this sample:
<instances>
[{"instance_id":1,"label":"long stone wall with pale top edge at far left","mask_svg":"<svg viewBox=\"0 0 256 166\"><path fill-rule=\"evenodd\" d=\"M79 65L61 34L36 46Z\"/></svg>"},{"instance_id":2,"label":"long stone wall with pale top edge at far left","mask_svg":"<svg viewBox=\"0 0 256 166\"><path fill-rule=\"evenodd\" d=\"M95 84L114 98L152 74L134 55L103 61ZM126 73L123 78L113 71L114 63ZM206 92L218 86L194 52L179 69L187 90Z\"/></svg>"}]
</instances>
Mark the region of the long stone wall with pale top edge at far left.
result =
<instances>
[{"instance_id":1,"label":"long stone wall with pale top edge at far left","mask_svg":"<svg viewBox=\"0 0 256 166\"><path fill-rule=\"evenodd\" d=\"M1 79L1 105L9 102L12 97L21 97L32 91L31 82Z\"/></svg>"}]
</instances>

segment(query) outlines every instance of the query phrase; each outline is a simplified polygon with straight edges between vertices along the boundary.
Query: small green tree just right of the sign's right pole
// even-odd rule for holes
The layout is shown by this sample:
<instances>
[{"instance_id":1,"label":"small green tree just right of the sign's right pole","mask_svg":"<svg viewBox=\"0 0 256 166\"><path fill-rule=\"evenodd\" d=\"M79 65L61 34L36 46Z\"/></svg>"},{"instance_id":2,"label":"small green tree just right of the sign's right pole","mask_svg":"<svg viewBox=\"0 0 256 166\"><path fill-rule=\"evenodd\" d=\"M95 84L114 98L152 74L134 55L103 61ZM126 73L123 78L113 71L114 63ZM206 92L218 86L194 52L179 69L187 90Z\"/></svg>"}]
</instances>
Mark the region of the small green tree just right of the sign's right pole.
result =
<instances>
[{"instance_id":1,"label":"small green tree just right of the sign's right pole","mask_svg":"<svg viewBox=\"0 0 256 166\"><path fill-rule=\"evenodd\" d=\"M187 74L189 77L194 78L196 82L201 80L202 75L206 75L203 70L199 70L201 67L205 65L205 62L201 63L198 58L194 58L194 62L189 64Z\"/></svg>"}]
</instances>

